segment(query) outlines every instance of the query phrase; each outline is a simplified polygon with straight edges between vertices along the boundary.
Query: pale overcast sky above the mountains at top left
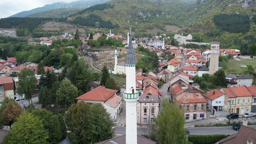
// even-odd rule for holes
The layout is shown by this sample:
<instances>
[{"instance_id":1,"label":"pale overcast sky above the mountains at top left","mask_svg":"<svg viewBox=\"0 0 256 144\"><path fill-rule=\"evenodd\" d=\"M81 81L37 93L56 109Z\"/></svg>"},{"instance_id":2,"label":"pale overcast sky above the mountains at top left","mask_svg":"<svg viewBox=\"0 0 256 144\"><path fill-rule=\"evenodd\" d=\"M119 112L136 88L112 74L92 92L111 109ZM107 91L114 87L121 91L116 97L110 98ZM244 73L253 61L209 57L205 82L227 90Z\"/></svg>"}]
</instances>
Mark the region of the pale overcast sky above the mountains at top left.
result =
<instances>
[{"instance_id":1,"label":"pale overcast sky above the mountains at top left","mask_svg":"<svg viewBox=\"0 0 256 144\"><path fill-rule=\"evenodd\" d=\"M0 0L0 18L5 18L25 10L43 7L56 2L72 2L75 0Z\"/></svg>"}]
</instances>

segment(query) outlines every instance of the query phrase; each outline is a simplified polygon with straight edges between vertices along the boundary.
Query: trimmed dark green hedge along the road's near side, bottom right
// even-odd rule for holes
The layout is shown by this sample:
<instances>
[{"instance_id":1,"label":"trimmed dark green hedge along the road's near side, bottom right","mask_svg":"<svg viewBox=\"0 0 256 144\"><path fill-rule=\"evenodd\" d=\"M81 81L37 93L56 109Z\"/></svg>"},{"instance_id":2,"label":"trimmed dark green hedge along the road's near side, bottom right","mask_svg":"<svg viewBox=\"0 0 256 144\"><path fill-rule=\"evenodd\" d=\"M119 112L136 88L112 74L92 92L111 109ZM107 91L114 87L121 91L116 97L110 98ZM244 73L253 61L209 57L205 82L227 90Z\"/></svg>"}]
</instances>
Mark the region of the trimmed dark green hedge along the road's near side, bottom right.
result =
<instances>
[{"instance_id":1,"label":"trimmed dark green hedge along the road's near side, bottom right","mask_svg":"<svg viewBox=\"0 0 256 144\"><path fill-rule=\"evenodd\" d=\"M214 135L189 135L188 141L193 144L214 144L230 135L214 134Z\"/></svg>"}]
</instances>

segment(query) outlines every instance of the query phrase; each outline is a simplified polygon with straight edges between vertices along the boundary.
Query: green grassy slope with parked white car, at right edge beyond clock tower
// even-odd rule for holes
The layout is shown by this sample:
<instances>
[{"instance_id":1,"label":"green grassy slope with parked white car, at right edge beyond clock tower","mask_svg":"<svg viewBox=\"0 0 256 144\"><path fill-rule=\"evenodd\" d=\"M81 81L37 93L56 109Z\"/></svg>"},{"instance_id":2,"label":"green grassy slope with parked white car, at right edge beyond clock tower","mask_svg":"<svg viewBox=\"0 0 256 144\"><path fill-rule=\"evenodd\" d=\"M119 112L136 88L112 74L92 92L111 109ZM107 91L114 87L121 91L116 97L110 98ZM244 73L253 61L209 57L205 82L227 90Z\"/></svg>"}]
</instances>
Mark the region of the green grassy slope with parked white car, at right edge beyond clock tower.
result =
<instances>
[{"instance_id":1,"label":"green grassy slope with parked white car, at right edge beyond clock tower","mask_svg":"<svg viewBox=\"0 0 256 144\"><path fill-rule=\"evenodd\" d=\"M256 68L256 60L253 59L231 59L226 63L227 69L226 73L233 73L233 74L243 74L247 69L241 68L241 65L252 65L253 68Z\"/></svg>"}]
</instances>

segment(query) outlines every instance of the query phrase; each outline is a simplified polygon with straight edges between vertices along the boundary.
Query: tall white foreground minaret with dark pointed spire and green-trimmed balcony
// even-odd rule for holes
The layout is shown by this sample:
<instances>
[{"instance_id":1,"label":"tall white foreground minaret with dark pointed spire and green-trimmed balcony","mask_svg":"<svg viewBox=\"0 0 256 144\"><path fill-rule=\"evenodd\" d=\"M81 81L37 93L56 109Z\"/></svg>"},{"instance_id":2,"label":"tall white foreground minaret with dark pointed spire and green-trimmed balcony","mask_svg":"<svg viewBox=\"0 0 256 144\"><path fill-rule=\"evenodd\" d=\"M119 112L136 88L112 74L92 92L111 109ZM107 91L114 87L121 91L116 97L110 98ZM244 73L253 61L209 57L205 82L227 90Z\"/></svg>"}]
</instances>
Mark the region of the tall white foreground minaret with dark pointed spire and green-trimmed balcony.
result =
<instances>
[{"instance_id":1,"label":"tall white foreground minaret with dark pointed spire and green-trimmed balcony","mask_svg":"<svg viewBox=\"0 0 256 144\"><path fill-rule=\"evenodd\" d=\"M137 112L136 102L139 93L136 91L135 79L135 54L131 38L128 43L128 53L126 58L126 91L124 100L126 102L126 144L137 144Z\"/></svg>"}]
</instances>

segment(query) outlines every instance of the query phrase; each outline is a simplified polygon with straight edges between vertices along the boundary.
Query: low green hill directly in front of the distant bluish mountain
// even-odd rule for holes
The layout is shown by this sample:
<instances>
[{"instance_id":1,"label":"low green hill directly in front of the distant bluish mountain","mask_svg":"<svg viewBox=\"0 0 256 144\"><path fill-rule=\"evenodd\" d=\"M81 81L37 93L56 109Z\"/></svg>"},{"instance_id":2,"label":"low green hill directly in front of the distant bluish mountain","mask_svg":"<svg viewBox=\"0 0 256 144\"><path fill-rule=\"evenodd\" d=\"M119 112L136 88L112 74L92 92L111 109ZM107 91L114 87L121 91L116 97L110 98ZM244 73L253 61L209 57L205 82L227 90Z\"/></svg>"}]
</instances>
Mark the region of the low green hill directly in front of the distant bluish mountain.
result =
<instances>
[{"instance_id":1,"label":"low green hill directly in front of the distant bluish mountain","mask_svg":"<svg viewBox=\"0 0 256 144\"><path fill-rule=\"evenodd\" d=\"M59 17L67 17L69 15L73 15L78 13L85 8L62 8L62 9L55 9L55 10L46 10L39 13L34 13L28 15L26 17L49 17L49 18L59 18Z\"/></svg>"}]
</instances>

